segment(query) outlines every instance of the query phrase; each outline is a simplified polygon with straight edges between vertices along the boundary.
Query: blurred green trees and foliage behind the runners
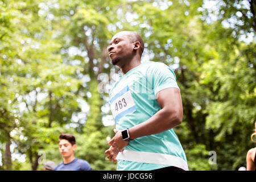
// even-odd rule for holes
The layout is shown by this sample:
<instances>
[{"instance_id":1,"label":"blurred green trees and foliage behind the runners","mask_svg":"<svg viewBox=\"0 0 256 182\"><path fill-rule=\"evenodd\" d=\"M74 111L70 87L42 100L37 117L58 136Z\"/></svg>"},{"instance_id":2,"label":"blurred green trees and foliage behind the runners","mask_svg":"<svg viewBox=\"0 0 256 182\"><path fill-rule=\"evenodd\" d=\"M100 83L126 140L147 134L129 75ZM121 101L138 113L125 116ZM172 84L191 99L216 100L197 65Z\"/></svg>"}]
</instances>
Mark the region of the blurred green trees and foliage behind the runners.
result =
<instances>
[{"instance_id":1,"label":"blurred green trees and foliage behind the runners","mask_svg":"<svg viewBox=\"0 0 256 182\"><path fill-rule=\"evenodd\" d=\"M255 147L255 12L252 0L1 0L0 170L59 164L60 133L75 135L75 156L93 170L115 170L104 154L114 135L106 48L122 30L142 36L142 60L175 71L184 117L174 130L189 169L245 167ZM111 78L103 93L101 73Z\"/></svg>"}]
</instances>

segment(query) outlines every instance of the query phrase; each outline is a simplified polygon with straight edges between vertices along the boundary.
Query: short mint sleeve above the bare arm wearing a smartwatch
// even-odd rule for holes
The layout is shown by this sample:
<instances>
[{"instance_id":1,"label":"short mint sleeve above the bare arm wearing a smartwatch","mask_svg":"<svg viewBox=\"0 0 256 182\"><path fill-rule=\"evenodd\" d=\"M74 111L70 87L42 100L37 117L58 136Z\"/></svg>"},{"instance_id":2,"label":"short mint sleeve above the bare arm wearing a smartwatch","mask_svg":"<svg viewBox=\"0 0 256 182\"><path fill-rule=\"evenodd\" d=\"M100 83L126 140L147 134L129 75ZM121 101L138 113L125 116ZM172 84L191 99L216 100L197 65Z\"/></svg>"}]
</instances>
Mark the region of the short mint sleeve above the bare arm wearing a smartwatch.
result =
<instances>
[{"instance_id":1,"label":"short mint sleeve above the bare arm wearing a smartwatch","mask_svg":"<svg viewBox=\"0 0 256 182\"><path fill-rule=\"evenodd\" d=\"M167 65L160 63L152 71L152 89L154 94L167 88L180 89L176 82L174 72Z\"/></svg>"}]
</instances>

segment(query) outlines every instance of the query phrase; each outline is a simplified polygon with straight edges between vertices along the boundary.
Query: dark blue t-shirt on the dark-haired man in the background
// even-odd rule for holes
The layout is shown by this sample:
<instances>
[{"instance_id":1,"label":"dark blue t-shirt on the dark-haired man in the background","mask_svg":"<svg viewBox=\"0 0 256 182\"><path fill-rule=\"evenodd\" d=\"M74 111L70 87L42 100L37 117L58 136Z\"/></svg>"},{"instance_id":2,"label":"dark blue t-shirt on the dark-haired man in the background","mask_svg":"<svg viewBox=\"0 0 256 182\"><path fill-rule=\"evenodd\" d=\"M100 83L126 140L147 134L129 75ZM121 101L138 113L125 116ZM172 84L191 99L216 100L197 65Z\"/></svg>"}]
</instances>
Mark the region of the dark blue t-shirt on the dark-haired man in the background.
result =
<instances>
[{"instance_id":1,"label":"dark blue t-shirt on the dark-haired man in the background","mask_svg":"<svg viewBox=\"0 0 256 182\"><path fill-rule=\"evenodd\" d=\"M68 164L61 162L54 171L92 171L92 168L86 160L75 158L75 160Z\"/></svg>"}]
</instances>

